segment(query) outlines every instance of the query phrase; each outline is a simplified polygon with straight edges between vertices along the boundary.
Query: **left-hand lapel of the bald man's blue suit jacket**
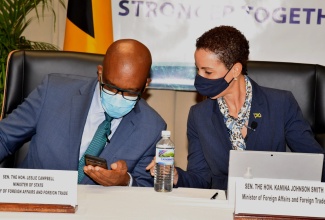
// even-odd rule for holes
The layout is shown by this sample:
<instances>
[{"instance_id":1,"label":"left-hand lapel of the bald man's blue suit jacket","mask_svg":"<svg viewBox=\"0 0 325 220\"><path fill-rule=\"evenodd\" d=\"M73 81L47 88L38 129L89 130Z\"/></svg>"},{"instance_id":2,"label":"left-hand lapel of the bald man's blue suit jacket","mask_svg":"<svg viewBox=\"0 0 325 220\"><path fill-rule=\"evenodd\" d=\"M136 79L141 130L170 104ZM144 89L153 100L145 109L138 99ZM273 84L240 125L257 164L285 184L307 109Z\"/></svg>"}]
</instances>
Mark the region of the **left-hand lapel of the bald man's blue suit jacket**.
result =
<instances>
[{"instance_id":1,"label":"left-hand lapel of the bald man's blue suit jacket","mask_svg":"<svg viewBox=\"0 0 325 220\"><path fill-rule=\"evenodd\" d=\"M82 133L96 85L97 80L90 81L80 88L80 93L75 95L71 101L69 153L70 169L72 170L78 168Z\"/></svg>"}]
</instances>

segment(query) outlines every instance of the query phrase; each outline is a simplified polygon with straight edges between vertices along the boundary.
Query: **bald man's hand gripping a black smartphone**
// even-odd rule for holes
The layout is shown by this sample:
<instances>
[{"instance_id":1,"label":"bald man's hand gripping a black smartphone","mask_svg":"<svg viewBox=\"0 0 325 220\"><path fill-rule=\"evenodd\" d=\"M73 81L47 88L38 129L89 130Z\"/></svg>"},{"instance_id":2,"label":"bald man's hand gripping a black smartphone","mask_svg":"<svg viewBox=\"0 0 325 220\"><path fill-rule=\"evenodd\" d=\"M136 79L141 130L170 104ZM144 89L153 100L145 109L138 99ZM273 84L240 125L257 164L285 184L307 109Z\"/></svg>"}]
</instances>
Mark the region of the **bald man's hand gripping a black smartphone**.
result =
<instances>
[{"instance_id":1,"label":"bald man's hand gripping a black smartphone","mask_svg":"<svg viewBox=\"0 0 325 220\"><path fill-rule=\"evenodd\" d=\"M124 160L119 160L111 164L111 170L91 165L85 166L85 173L103 186L128 186L130 176L127 173L127 165Z\"/></svg>"}]
</instances>

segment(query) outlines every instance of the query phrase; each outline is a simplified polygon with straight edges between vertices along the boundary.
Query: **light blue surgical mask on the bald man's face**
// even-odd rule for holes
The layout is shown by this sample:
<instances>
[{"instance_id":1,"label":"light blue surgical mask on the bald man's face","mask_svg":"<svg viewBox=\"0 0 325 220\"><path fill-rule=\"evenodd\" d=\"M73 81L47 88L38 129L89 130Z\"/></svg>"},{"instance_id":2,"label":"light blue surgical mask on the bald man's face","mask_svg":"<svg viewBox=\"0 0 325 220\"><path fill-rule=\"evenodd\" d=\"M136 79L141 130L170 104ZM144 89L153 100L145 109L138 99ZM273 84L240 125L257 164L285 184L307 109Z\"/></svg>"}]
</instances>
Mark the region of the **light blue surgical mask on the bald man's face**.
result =
<instances>
[{"instance_id":1,"label":"light blue surgical mask on the bald man's face","mask_svg":"<svg viewBox=\"0 0 325 220\"><path fill-rule=\"evenodd\" d=\"M101 102L105 112L112 118L121 118L129 113L137 103L123 98L122 95L109 95L101 91Z\"/></svg>"}]
</instances>

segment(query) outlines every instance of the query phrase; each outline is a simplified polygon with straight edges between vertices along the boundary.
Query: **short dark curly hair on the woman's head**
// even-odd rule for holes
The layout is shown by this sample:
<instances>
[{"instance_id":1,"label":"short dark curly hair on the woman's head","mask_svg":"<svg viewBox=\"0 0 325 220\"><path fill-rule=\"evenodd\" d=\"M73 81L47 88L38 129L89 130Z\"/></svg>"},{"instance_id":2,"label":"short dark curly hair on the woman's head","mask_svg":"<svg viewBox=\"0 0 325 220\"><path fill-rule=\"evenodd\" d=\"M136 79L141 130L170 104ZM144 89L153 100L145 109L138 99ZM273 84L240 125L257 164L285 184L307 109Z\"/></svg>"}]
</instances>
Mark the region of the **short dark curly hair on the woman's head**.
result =
<instances>
[{"instance_id":1,"label":"short dark curly hair on the woman's head","mask_svg":"<svg viewBox=\"0 0 325 220\"><path fill-rule=\"evenodd\" d=\"M236 28L218 26L205 32L196 40L196 49L209 50L230 69L233 64L241 63L246 74L249 56L249 42Z\"/></svg>"}]
</instances>

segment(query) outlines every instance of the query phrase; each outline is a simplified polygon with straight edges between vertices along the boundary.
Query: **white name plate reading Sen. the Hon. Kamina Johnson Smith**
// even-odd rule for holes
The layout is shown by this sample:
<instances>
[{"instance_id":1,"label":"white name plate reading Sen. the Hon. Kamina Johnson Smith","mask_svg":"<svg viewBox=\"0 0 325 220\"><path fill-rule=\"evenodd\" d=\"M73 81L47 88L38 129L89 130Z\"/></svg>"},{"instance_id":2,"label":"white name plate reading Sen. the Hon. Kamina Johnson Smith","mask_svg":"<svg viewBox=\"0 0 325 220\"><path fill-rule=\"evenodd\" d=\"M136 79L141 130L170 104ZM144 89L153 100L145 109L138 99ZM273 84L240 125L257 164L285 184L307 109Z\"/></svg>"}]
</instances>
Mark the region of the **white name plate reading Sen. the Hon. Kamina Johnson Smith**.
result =
<instances>
[{"instance_id":1,"label":"white name plate reading Sen. the Hon. Kamina Johnson Smith","mask_svg":"<svg viewBox=\"0 0 325 220\"><path fill-rule=\"evenodd\" d=\"M240 179L235 213L325 217L325 183L283 179Z\"/></svg>"}]
</instances>

